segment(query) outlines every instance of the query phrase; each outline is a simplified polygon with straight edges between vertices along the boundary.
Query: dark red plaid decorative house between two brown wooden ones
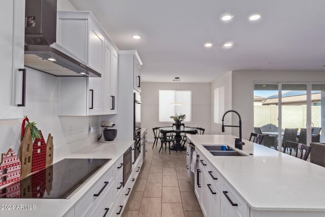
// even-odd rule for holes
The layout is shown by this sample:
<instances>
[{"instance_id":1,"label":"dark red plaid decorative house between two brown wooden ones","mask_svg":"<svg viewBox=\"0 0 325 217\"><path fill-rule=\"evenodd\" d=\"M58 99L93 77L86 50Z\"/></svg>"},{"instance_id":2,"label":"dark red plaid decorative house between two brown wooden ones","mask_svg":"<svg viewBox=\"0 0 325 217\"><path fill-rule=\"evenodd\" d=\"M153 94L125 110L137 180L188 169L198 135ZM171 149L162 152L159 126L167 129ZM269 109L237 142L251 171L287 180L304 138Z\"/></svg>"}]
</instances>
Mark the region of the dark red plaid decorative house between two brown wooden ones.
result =
<instances>
[{"instance_id":1,"label":"dark red plaid decorative house between two brown wooden ones","mask_svg":"<svg viewBox=\"0 0 325 217\"><path fill-rule=\"evenodd\" d=\"M41 138L37 138L32 146L32 172L36 172L46 167L46 143L42 132Z\"/></svg>"}]
</instances>

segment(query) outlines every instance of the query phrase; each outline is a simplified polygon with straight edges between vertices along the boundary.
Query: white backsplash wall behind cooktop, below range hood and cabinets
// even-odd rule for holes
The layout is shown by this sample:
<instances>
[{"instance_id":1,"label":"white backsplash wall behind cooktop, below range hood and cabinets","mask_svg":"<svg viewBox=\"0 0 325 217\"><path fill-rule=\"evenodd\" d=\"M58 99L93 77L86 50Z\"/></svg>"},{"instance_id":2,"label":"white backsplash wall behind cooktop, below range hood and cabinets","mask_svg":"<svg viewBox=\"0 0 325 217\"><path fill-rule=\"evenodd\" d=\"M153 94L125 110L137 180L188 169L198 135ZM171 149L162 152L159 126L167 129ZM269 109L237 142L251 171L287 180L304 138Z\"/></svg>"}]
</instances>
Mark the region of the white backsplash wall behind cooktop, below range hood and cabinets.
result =
<instances>
[{"instance_id":1,"label":"white backsplash wall behind cooktop, below range hood and cabinets","mask_svg":"<svg viewBox=\"0 0 325 217\"><path fill-rule=\"evenodd\" d=\"M59 0L58 9L75 10L68 0ZM58 116L58 78L26 67L26 107L24 115L35 121L45 140L49 133L54 139L54 162L70 152L94 141L98 134L99 116ZM5 72L3 72L5 73ZM22 119L0 120L0 153L13 148L18 154ZM88 133L88 125L94 133ZM69 136L69 128L72 134ZM18 155L19 156L19 155Z\"/></svg>"}]
</instances>

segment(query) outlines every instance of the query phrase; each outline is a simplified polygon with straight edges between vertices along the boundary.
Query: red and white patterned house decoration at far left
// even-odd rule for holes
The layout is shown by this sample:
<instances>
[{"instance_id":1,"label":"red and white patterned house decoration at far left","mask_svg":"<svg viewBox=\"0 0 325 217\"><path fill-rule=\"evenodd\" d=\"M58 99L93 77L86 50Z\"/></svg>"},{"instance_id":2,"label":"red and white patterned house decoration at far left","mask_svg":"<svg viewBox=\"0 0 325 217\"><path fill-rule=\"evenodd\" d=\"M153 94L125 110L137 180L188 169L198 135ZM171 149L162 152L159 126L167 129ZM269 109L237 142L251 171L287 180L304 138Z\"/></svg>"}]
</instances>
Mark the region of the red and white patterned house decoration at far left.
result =
<instances>
[{"instance_id":1,"label":"red and white patterned house decoration at far left","mask_svg":"<svg viewBox=\"0 0 325 217\"><path fill-rule=\"evenodd\" d=\"M21 163L17 154L12 148L9 148L7 153L1 154L2 160L0 163L0 188L4 185L20 181Z\"/></svg>"}]
</instances>

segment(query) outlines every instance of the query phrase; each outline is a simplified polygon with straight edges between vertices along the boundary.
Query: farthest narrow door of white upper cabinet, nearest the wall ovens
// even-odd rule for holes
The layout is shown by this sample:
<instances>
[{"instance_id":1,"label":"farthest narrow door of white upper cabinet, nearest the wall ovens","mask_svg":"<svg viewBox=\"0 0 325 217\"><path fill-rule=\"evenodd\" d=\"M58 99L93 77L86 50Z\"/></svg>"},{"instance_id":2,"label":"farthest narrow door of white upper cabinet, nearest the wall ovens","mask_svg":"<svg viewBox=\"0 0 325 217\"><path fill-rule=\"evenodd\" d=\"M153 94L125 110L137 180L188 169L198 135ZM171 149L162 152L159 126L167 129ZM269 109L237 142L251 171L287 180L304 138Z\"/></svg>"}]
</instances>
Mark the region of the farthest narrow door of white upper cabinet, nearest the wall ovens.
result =
<instances>
[{"instance_id":1,"label":"farthest narrow door of white upper cabinet, nearest the wall ovens","mask_svg":"<svg viewBox=\"0 0 325 217\"><path fill-rule=\"evenodd\" d=\"M117 114L117 84L118 84L118 75L117 75L117 52L111 53L111 114Z\"/></svg>"}]
</instances>

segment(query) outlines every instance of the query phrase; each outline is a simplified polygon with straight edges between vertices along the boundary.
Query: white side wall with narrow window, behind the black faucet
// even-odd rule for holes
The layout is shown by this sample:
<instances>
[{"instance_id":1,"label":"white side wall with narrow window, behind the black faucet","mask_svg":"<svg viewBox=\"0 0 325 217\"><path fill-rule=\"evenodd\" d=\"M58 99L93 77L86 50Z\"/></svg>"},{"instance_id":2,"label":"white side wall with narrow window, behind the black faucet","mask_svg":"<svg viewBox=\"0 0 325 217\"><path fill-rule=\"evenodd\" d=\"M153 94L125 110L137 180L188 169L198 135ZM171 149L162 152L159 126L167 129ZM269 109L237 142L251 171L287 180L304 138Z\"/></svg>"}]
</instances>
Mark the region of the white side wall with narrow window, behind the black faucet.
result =
<instances>
[{"instance_id":1,"label":"white side wall with narrow window, behind the black faucet","mask_svg":"<svg viewBox=\"0 0 325 217\"><path fill-rule=\"evenodd\" d=\"M224 87L224 111L232 109L232 72L229 72L221 78L211 83L211 134L231 134L231 128L225 128L225 132L221 132L221 124L214 123L214 89ZM222 114L220 114L221 116ZM220 118L220 117L218 117ZM232 115L228 115L224 119L224 124L228 125L232 122Z\"/></svg>"}]
</instances>

